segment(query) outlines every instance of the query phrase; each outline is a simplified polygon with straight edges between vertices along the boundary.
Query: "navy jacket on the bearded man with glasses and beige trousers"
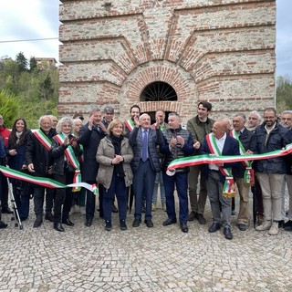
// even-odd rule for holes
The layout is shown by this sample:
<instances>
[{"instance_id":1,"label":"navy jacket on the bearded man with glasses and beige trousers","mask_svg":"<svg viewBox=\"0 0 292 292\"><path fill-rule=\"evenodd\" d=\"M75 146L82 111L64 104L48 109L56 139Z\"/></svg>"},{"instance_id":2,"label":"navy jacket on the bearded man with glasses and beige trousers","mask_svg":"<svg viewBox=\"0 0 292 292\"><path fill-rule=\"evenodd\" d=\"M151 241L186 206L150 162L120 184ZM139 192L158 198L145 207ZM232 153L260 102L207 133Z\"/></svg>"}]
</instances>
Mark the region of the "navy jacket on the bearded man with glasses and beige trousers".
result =
<instances>
[{"instance_id":1,"label":"navy jacket on the bearded man with glasses and beige trousers","mask_svg":"<svg viewBox=\"0 0 292 292\"><path fill-rule=\"evenodd\" d=\"M265 125L266 124L264 122L255 129L257 153L262 154L270 151L281 150L291 142L289 131L278 122L276 122L275 128L270 132L266 140L267 133ZM254 163L255 172L280 174L287 172L287 167L283 156L272 159L263 159Z\"/></svg>"}]
</instances>

